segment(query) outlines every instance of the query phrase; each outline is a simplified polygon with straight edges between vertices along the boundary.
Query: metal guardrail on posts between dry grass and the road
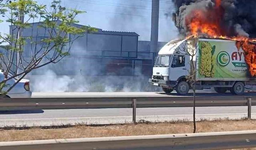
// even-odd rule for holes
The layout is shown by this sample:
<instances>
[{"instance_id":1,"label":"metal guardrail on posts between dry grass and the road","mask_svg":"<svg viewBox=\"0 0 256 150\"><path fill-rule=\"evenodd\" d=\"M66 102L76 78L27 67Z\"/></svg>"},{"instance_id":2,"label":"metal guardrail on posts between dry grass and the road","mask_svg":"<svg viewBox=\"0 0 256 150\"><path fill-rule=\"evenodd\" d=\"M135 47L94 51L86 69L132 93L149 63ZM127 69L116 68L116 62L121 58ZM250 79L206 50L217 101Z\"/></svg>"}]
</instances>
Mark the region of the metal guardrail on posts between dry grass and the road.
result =
<instances>
[{"instance_id":1,"label":"metal guardrail on posts between dry grass and the road","mask_svg":"<svg viewBox=\"0 0 256 150\"><path fill-rule=\"evenodd\" d=\"M186 97L85 97L85 98L14 98L0 99L0 110L34 109L96 109L132 108L133 122L136 122L136 108L192 107L193 98ZM247 96L198 96L196 107L256 106L256 97Z\"/></svg>"}]
</instances>

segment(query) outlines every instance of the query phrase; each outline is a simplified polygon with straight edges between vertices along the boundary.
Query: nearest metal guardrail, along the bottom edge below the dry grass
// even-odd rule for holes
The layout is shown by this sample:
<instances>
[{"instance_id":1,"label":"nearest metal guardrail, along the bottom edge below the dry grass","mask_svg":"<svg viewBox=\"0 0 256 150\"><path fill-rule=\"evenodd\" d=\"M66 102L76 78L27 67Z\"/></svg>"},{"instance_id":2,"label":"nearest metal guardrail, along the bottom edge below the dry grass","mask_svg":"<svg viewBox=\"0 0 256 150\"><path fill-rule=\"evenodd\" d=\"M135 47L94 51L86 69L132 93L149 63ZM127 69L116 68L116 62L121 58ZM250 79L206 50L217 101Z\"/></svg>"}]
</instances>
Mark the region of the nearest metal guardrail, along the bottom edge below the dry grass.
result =
<instances>
[{"instance_id":1,"label":"nearest metal guardrail, along the bottom edge below the dry grass","mask_svg":"<svg viewBox=\"0 0 256 150\"><path fill-rule=\"evenodd\" d=\"M256 130L0 142L1 150L222 150L256 147Z\"/></svg>"}]
</instances>

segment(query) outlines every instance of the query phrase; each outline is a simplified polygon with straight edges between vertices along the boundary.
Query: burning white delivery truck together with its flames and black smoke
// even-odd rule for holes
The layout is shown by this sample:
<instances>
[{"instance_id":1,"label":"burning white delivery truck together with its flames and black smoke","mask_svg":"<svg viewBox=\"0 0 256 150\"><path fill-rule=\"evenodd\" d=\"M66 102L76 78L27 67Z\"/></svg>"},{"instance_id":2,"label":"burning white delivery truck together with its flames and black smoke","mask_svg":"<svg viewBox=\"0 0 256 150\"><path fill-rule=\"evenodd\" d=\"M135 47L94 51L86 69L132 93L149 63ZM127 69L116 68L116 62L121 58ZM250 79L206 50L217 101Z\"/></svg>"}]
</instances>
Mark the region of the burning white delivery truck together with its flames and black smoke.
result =
<instances>
[{"instance_id":1,"label":"burning white delivery truck together with its flames and black smoke","mask_svg":"<svg viewBox=\"0 0 256 150\"><path fill-rule=\"evenodd\" d=\"M195 88L214 88L240 95L256 85L255 0L172 0L169 13L184 40L166 44L158 53L149 82L164 92L187 94L190 62ZM168 14L167 14L168 15ZM191 61L189 52L195 52Z\"/></svg>"}]
</instances>

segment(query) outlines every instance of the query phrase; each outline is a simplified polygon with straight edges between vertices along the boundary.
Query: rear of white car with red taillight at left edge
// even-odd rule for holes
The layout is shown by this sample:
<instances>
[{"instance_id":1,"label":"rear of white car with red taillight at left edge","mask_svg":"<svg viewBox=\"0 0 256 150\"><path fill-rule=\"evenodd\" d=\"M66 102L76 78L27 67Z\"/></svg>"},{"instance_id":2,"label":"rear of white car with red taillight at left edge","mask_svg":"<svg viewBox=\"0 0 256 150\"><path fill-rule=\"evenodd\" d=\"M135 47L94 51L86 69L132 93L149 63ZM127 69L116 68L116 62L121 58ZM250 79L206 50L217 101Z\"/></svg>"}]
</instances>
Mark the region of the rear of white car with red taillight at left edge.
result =
<instances>
[{"instance_id":1,"label":"rear of white car with red taillight at left edge","mask_svg":"<svg viewBox=\"0 0 256 150\"><path fill-rule=\"evenodd\" d=\"M0 81L4 80L4 74L0 71ZM6 87L4 87L4 90L7 90L8 87L13 85L15 82L17 82L17 79L11 79L6 82ZM22 79L10 92L6 94L6 97L8 98L31 98L32 92L30 91L29 87L29 80Z\"/></svg>"}]
</instances>

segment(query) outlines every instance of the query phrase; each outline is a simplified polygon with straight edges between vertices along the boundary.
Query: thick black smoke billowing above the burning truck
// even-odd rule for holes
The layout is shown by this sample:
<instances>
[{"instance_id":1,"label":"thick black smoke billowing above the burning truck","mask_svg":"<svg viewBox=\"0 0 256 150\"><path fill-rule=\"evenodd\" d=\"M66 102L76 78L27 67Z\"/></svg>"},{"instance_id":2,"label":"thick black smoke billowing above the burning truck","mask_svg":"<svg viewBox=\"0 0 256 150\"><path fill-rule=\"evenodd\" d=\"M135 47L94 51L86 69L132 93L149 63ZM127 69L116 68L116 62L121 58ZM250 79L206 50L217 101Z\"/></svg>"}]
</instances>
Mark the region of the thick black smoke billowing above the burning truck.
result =
<instances>
[{"instance_id":1,"label":"thick black smoke billowing above the burning truck","mask_svg":"<svg viewBox=\"0 0 256 150\"><path fill-rule=\"evenodd\" d=\"M209 24L217 24L220 30L216 32L220 35L256 38L255 0L172 0L172 2L176 9L168 15L172 16L180 34L184 36L191 34L190 22L200 18Z\"/></svg>"}]
</instances>

